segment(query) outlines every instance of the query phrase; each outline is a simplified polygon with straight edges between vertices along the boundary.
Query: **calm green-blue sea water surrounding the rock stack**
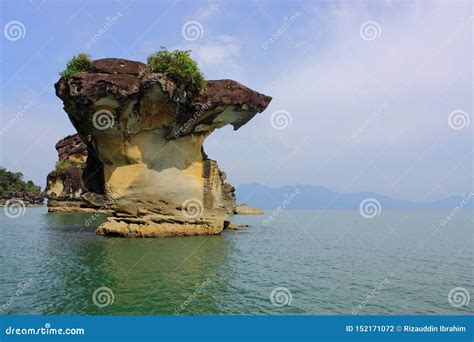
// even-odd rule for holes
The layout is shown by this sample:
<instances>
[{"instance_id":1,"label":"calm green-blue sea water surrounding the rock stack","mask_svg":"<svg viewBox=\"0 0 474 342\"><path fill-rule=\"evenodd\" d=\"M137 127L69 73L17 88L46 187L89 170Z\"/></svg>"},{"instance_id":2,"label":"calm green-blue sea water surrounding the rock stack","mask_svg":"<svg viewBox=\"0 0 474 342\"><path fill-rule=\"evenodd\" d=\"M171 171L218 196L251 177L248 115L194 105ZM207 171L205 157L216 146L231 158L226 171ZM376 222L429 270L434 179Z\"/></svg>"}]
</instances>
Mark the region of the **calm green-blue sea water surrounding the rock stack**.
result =
<instances>
[{"instance_id":1,"label":"calm green-blue sea water surrounding the rock stack","mask_svg":"<svg viewBox=\"0 0 474 342\"><path fill-rule=\"evenodd\" d=\"M0 215L2 314L472 313L448 300L474 295L472 211L443 226L449 211L288 210L263 227L266 212L166 239L97 236L103 218L45 208Z\"/></svg>"}]
</instances>

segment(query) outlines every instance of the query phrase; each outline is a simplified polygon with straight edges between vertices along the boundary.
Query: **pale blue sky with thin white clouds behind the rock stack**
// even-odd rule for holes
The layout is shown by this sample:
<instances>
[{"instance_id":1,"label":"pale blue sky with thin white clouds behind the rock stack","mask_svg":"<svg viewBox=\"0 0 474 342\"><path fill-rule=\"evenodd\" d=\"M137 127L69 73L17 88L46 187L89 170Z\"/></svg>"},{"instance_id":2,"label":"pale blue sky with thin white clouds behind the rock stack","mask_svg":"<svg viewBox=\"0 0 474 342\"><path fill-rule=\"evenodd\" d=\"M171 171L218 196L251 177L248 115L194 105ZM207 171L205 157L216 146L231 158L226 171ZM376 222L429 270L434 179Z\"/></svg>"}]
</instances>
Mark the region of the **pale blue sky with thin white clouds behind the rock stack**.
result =
<instances>
[{"instance_id":1,"label":"pale blue sky with thin white clouds behind the rock stack","mask_svg":"<svg viewBox=\"0 0 474 342\"><path fill-rule=\"evenodd\" d=\"M54 94L86 52L190 49L207 79L273 97L205 142L234 186L432 201L473 191L470 1L1 2L0 165L43 187L75 133Z\"/></svg>"}]
</instances>

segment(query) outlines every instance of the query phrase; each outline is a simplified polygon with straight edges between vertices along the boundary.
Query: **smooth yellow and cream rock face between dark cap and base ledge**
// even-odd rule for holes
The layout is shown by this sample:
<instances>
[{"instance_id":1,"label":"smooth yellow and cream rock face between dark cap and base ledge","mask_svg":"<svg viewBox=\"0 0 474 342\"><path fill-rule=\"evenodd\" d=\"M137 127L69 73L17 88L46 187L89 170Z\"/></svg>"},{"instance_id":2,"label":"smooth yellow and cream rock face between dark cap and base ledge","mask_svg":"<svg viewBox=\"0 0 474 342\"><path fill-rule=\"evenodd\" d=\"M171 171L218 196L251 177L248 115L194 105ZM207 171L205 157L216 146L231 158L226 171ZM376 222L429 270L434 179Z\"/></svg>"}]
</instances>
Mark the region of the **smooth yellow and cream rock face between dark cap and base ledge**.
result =
<instances>
[{"instance_id":1,"label":"smooth yellow and cream rock face between dark cap and base ledge","mask_svg":"<svg viewBox=\"0 0 474 342\"><path fill-rule=\"evenodd\" d=\"M108 195L117 209L136 214L139 210L179 213L189 198L204 196L202 137L177 141L164 138L164 131L143 131L130 136L97 136L97 149L104 160ZM207 208L212 209L212 208Z\"/></svg>"}]
</instances>

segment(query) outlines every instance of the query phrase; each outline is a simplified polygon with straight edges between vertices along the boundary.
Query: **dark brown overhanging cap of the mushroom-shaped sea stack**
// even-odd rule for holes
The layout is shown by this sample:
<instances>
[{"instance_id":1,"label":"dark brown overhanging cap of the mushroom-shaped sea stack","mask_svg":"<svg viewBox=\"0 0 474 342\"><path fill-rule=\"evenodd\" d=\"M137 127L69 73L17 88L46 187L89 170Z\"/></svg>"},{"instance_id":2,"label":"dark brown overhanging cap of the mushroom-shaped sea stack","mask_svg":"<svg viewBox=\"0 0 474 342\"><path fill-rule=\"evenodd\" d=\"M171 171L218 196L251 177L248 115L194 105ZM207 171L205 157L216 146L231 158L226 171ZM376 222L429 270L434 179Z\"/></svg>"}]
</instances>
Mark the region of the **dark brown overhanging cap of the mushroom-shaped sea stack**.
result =
<instances>
[{"instance_id":1,"label":"dark brown overhanging cap of the mushroom-shaped sea stack","mask_svg":"<svg viewBox=\"0 0 474 342\"><path fill-rule=\"evenodd\" d=\"M159 89L167 97L161 103L167 103L175 111L167 125L169 139L176 138L177 130L184 124L190 126L190 120L194 126L202 121L210 128L219 128L224 123L232 124L236 130L264 111L271 101L271 97L230 79L206 81L206 87L201 92L188 94L171 79L152 73L146 64L117 58L95 60L88 72L61 78L55 88L56 95L64 102L66 112L73 114L75 107L81 108L81 112L71 118L76 128L84 126L86 123L80 121L90 121L98 110L105 109L115 115L116 111L127 110L130 104L136 108L128 109L137 112L136 116L143 117L147 113L139 113L140 102L150 94L159 94ZM227 114L229 111L233 113L232 120L215 120L217 114L226 109ZM200 127L202 129L203 126ZM179 136L183 134L182 131L186 131L184 134L193 133L187 127L181 129Z\"/></svg>"}]
</instances>

